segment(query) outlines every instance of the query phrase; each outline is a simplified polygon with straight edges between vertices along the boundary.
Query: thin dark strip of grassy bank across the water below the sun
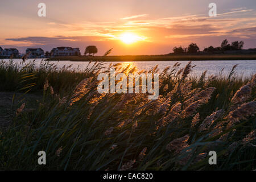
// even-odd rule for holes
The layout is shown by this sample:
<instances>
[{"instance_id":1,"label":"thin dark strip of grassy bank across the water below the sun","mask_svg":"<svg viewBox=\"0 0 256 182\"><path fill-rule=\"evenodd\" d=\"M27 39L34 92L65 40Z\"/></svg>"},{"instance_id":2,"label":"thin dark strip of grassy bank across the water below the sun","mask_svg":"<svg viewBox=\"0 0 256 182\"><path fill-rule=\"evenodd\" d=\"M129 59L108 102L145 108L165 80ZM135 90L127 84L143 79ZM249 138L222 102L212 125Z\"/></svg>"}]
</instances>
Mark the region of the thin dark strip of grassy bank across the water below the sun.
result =
<instances>
[{"instance_id":1,"label":"thin dark strip of grassy bank across the water below the sun","mask_svg":"<svg viewBox=\"0 0 256 182\"><path fill-rule=\"evenodd\" d=\"M69 61L177 61L177 60L256 60L255 54L241 55L141 55L141 56L60 56L48 60Z\"/></svg>"}]
</instances>

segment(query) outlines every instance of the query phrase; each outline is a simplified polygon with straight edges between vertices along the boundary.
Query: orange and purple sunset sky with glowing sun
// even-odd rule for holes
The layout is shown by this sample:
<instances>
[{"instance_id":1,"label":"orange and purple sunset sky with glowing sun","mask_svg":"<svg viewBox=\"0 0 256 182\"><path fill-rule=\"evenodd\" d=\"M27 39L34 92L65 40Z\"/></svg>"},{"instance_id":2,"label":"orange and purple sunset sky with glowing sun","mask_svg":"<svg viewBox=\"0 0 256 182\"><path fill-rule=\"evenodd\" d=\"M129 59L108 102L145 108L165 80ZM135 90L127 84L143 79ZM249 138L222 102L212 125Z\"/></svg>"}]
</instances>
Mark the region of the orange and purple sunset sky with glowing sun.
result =
<instances>
[{"instance_id":1,"label":"orange and purple sunset sky with glowing sun","mask_svg":"<svg viewBox=\"0 0 256 182\"><path fill-rule=\"evenodd\" d=\"M46 17L38 4L46 3ZM217 4L217 17L208 5ZM9 0L0 2L0 47L98 47L97 55L156 55L194 42L220 46L222 40L243 40L256 48L255 0Z\"/></svg>"}]
</instances>

